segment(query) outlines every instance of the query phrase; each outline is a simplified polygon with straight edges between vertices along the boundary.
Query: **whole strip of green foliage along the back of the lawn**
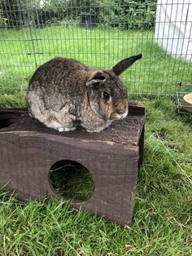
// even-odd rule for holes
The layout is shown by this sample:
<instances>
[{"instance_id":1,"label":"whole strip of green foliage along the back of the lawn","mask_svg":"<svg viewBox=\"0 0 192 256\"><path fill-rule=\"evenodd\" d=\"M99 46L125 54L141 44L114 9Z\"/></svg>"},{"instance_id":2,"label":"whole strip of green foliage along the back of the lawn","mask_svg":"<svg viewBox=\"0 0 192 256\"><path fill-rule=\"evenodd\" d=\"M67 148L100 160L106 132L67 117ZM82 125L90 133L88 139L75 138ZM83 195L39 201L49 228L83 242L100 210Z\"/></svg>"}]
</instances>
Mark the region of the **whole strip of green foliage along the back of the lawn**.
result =
<instances>
[{"instance_id":1,"label":"whole strip of green foliage along the back of the lawn","mask_svg":"<svg viewBox=\"0 0 192 256\"><path fill-rule=\"evenodd\" d=\"M155 23L155 0L8 0L3 15L13 27L25 24L60 24L78 20L82 14L94 14L97 22L121 29L152 29ZM23 10L23 11L20 11Z\"/></svg>"}]
</instances>

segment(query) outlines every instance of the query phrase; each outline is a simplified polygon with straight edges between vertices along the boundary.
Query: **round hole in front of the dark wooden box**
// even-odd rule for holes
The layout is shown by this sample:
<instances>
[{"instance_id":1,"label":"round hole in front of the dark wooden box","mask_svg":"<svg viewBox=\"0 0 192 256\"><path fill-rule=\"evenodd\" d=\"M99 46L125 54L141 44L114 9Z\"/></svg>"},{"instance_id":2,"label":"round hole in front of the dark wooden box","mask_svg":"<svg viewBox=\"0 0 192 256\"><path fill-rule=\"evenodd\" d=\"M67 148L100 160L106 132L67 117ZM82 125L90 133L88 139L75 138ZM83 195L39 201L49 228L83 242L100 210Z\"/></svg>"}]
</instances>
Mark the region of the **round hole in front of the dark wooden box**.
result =
<instances>
[{"instance_id":1,"label":"round hole in front of the dark wooden box","mask_svg":"<svg viewBox=\"0 0 192 256\"><path fill-rule=\"evenodd\" d=\"M49 180L59 196L87 201L94 194L94 179L89 170L77 161L62 160L51 166Z\"/></svg>"}]
</instances>

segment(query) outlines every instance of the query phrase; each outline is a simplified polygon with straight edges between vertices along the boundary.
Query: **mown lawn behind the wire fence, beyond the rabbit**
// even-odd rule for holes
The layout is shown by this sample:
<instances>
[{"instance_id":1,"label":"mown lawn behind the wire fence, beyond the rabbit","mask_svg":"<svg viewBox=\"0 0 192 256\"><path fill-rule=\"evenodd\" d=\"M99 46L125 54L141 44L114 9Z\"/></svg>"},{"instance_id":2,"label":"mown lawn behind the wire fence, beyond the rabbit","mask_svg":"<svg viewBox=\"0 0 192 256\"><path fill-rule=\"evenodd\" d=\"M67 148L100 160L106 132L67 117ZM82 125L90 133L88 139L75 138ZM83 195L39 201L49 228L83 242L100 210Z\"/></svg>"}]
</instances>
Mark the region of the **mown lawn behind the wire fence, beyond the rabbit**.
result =
<instances>
[{"instance_id":1,"label":"mown lawn behind the wire fence, beyond the rabbit","mask_svg":"<svg viewBox=\"0 0 192 256\"><path fill-rule=\"evenodd\" d=\"M2 93L11 93L24 87L36 64L43 64L55 56L110 68L123 58L142 52L143 60L121 76L132 93L170 95L180 82L185 84L192 80L190 63L167 55L155 44L152 31L109 28L85 30L78 26L52 25L32 30L0 29L0 36ZM187 86L179 87L181 89L187 91Z\"/></svg>"}]
</instances>

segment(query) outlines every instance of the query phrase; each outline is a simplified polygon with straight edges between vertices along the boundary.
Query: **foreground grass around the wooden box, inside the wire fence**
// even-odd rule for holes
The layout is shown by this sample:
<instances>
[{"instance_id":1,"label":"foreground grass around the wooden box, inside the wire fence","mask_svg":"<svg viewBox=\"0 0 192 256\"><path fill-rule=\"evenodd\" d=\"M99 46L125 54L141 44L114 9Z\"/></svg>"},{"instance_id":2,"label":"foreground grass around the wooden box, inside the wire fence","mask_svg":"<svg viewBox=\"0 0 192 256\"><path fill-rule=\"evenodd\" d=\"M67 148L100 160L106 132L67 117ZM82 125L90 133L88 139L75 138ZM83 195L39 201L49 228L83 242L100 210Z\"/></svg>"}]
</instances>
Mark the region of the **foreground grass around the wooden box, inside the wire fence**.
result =
<instances>
[{"instance_id":1,"label":"foreground grass around the wooden box, inside the wire fence","mask_svg":"<svg viewBox=\"0 0 192 256\"><path fill-rule=\"evenodd\" d=\"M170 99L139 101L146 104L146 141L132 226L120 227L64 201L24 204L2 190L0 255L192 254L192 117L178 116Z\"/></svg>"}]
</instances>

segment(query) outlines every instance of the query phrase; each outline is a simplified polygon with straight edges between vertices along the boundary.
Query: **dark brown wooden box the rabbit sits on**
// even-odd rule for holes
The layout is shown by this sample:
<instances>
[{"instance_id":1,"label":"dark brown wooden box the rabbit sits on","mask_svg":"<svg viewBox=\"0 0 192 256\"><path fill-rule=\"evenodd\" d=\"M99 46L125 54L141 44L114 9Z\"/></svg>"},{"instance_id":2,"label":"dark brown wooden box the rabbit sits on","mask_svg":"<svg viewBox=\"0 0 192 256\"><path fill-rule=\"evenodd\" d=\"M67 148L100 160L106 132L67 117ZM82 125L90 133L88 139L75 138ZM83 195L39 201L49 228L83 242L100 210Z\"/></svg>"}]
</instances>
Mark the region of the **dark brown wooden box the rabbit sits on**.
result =
<instances>
[{"instance_id":1,"label":"dark brown wooden box the rabbit sits on","mask_svg":"<svg viewBox=\"0 0 192 256\"><path fill-rule=\"evenodd\" d=\"M93 174L94 195L72 205L129 224L137 166L142 164L144 115L143 105L132 103L128 117L101 133L59 133L34 121L27 109L0 109L0 183L7 183L21 200L57 199L50 167L60 160L77 161Z\"/></svg>"}]
</instances>

